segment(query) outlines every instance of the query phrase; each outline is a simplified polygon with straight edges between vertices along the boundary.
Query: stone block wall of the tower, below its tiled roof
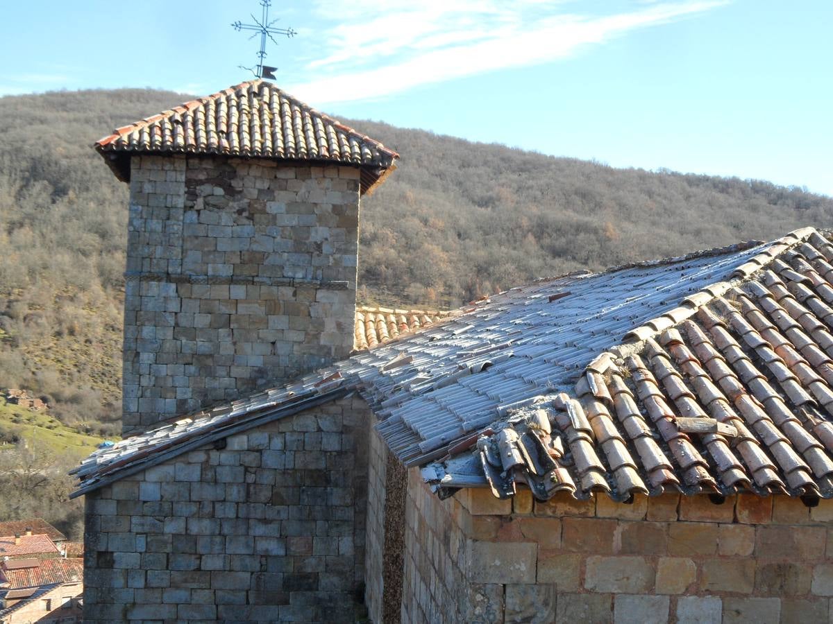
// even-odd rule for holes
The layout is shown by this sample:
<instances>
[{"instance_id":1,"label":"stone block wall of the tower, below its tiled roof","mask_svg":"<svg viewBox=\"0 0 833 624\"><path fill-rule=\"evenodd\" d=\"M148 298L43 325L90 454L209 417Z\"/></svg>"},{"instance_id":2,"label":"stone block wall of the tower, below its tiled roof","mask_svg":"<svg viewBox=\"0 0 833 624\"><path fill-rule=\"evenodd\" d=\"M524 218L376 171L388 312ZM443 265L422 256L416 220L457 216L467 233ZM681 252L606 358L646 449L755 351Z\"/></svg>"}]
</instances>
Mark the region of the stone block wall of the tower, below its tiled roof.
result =
<instances>
[{"instance_id":1,"label":"stone block wall of the tower, below its tiled roof","mask_svg":"<svg viewBox=\"0 0 833 624\"><path fill-rule=\"evenodd\" d=\"M133 156L124 433L352 349L359 170Z\"/></svg>"}]
</instances>

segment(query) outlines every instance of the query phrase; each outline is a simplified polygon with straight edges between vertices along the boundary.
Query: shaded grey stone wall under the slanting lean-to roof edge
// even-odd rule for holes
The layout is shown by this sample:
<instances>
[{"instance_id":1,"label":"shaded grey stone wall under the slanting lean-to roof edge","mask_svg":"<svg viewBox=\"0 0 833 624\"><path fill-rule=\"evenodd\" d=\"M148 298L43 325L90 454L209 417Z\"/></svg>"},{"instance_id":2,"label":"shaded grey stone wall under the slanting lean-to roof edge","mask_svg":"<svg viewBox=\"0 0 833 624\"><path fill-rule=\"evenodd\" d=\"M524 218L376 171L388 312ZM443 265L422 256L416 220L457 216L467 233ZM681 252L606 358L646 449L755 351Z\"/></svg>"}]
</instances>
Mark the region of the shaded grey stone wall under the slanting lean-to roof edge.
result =
<instances>
[{"instance_id":1,"label":"shaded grey stone wall under the slanting lean-to roof edge","mask_svg":"<svg viewBox=\"0 0 833 624\"><path fill-rule=\"evenodd\" d=\"M85 622L353 622L367 422L341 399L87 494Z\"/></svg>"}]
</instances>

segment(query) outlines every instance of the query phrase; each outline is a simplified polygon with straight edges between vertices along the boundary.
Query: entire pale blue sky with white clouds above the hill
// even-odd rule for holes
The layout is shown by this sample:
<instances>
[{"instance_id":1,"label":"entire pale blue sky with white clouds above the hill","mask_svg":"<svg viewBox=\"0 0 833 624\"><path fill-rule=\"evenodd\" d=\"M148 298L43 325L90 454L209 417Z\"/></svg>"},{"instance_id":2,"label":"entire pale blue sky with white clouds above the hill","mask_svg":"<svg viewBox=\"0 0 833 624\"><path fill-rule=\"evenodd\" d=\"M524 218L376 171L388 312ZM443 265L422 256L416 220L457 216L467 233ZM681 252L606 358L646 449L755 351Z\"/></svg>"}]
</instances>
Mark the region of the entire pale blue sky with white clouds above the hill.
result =
<instances>
[{"instance_id":1,"label":"entire pale blue sky with white clouds above the hill","mask_svg":"<svg viewBox=\"0 0 833 624\"><path fill-rule=\"evenodd\" d=\"M207 95L257 62L257 40L230 24L259 16L258 0L0 9L0 94ZM277 84L336 116L833 196L829 0L274 0L271 12L297 31L267 48Z\"/></svg>"}]
</instances>

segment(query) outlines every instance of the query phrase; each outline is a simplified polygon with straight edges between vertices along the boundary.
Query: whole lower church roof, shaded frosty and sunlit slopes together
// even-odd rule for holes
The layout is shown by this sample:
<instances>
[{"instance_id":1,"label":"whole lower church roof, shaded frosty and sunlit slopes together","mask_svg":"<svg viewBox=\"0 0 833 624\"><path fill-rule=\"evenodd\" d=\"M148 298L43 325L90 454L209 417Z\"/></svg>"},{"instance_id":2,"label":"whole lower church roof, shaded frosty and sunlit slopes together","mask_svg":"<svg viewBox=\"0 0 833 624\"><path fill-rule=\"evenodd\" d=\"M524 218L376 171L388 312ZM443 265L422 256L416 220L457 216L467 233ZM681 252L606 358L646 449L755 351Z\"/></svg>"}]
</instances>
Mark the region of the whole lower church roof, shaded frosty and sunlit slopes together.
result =
<instances>
[{"instance_id":1,"label":"whole lower church roof, shaded frosty and sunlit slopes together","mask_svg":"<svg viewBox=\"0 0 833 624\"><path fill-rule=\"evenodd\" d=\"M392 451L430 463L437 488L833 496L829 280L833 245L811 228L541 280L290 387L94 453L79 492L357 389ZM687 433L678 418L711 429ZM505 465L501 450L517 462Z\"/></svg>"}]
</instances>

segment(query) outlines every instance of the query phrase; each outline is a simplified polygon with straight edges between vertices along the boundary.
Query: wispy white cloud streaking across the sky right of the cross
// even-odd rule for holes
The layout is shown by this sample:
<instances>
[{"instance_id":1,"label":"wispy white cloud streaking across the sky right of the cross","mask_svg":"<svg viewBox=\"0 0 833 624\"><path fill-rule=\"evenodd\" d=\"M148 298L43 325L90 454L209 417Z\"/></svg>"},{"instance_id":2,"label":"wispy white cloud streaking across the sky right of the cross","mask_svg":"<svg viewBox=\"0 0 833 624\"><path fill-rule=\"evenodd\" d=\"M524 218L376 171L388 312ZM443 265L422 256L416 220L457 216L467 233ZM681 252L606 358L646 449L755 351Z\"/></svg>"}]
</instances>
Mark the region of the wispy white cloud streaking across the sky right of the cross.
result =
<instances>
[{"instance_id":1,"label":"wispy white cloud streaking across the sky right of the cross","mask_svg":"<svg viewBox=\"0 0 833 624\"><path fill-rule=\"evenodd\" d=\"M308 102L331 104L384 97L433 82L570 57L638 28L706 12L729 0L639 3L608 15L566 12L546 0L317 0L328 42L310 60L317 76L292 86ZM368 19L368 15L377 15ZM303 32L301 32L303 35Z\"/></svg>"}]
</instances>

